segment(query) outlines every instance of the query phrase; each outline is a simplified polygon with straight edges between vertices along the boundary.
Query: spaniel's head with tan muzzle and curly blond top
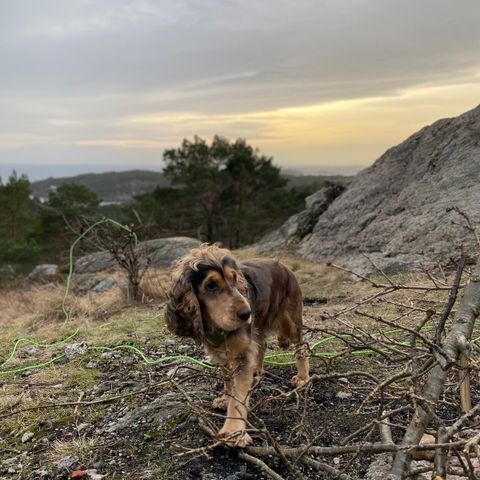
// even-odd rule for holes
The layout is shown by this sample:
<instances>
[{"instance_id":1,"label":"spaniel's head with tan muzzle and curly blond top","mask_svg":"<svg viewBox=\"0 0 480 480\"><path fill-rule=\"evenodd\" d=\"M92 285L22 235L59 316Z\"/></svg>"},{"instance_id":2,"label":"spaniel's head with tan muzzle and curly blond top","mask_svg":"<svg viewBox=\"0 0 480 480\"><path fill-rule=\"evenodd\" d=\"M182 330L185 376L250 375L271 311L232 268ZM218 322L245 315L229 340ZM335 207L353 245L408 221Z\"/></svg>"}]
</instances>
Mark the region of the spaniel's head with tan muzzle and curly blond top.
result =
<instances>
[{"instance_id":1,"label":"spaniel's head with tan muzzle and curly blond top","mask_svg":"<svg viewBox=\"0 0 480 480\"><path fill-rule=\"evenodd\" d=\"M202 246L177 263L165 307L170 331L201 341L215 330L238 330L251 313L248 283L228 250Z\"/></svg>"}]
</instances>

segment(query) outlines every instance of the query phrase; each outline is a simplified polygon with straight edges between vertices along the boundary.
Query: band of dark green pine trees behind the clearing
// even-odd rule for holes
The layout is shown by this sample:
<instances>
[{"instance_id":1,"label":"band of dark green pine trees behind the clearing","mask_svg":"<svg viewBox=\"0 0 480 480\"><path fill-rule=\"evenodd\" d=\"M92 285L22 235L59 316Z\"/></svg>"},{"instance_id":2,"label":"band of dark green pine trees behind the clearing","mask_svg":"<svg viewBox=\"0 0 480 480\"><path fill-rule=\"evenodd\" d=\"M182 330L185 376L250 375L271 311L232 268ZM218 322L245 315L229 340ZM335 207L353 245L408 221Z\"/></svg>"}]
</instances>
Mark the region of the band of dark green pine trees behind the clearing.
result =
<instances>
[{"instance_id":1,"label":"band of dark green pine trees behind the clearing","mask_svg":"<svg viewBox=\"0 0 480 480\"><path fill-rule=\"evenodd\" d=\"M125 205L101 206L96 192L62 183L41 202L15 172L0 181L0 262L61 261L88 225L110 217L141 239L186 235L238 248L304 208L319 182L292 186L272 158L243 139L195 137L164 152L166 182ZM88 250L89 242L82 242Z\"/></svg>"}]
</instances>

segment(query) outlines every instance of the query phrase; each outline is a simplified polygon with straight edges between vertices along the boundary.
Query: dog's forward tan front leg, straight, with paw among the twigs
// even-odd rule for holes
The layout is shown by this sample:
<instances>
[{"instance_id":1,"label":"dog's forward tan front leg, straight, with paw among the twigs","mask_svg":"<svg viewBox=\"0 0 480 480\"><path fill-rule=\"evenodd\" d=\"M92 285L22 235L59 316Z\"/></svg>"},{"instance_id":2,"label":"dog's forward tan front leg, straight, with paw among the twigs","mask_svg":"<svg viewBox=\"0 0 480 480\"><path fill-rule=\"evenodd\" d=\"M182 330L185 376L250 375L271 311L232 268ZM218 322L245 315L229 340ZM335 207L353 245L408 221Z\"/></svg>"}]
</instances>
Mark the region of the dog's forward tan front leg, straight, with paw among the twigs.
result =
<instances>
[{"instance_id":1,"label":"dog's forward tan front leg, straight, with paw among the twigs","mask_svg":"<svg viewBox=\"0 0 480 480\"><path fill-rule=\"evenodd\" d=\"M233 391L227 406L227 419L218 432L231 446L246 447L252 438L245 432L248 400L253 383L253 365L237 366L233 374Z\"/></svg>"}]
</instances>

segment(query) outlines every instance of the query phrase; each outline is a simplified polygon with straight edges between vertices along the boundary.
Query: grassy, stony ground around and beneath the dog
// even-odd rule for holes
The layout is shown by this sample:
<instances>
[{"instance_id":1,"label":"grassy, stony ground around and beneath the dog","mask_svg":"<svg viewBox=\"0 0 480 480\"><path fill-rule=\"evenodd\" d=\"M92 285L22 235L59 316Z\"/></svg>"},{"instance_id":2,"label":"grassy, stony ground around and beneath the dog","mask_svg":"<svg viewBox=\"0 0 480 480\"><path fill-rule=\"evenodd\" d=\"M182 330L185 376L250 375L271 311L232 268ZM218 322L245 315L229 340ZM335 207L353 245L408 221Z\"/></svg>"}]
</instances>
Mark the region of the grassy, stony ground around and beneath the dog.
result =
<instances>
[{"instance_id":1,"label":"grassy, stony ground around and beneath the dog","mask_svg":"<svg viewBox=\"0 0 480 480\"><path fill-rule=\"evenodd\" d=\"M305 293L310 345L325 338L327 330L340 332L344 328L329 319L329 313L346 311L376 291L332 268L289 254L282 254L282 260L295 271ZM415 275L396 280L418 282ZM222 424L222 412L211 407L221 389L219 375L190 360L170 357L203 360L203 351L166 331L161 300L150 298L146 304L131 306L123 303L121 294L116 288L102 294L70 296L68 322L59 312L62 285L0 294L0 354L4 362L0 369L0 478L266 478L257 466L240 458L236 449L216 445L201 428L202 421L217 429ZM409 321L415 322L426 308L440 312L447 294L397 292L390 297L393 304L380 302L372 308L377 314L387 314L413 302L419 310ZM352 313L345 312L342 318L349 316ZM364 322L365 329L379 331L378 325L355 315L351 318ZM76 329L78 333L67 341L53 343ZM41 343L20 343L8 360L14 340L22 337ZM45 347L45 343L53 345ZM145 357L125 345L135 346ZM281 445L312 442L329 446L340 444L372 420L376 400L361 414L357 409L374 384L368 375L350 373L381 377L386 364L374 355L332 358L344 347L343 342L334 340L314 348L312 372L336 378L313 382L295 395L290 395L289 383L294 367L267 364L252 395L253 426L268 431ZM274 343L269 353L277 353ZM61 355L65 356L59 358ZM52 359L56 360L44 365ZM288 360L291 358L270 358ZM29 368L22 371L26 366ZM11 370L18 371L9 373ZM393 405L397 400L389 401ZM448 415L455 418L455 404L448 409ZM407 417L399 414L392 421ZM402 431L393 433L398 439ZM256 446L269 443L265 435L253 437ZM369 441L378 439L376 431L368 436ZM352 479L382 475L381 458L372 455L333 455L318 460ZM283 478L293 478L277 458L265 457L264 461ZM307 479L333 478L305 465L298 468Z\"/></svg>"}]
</instances>

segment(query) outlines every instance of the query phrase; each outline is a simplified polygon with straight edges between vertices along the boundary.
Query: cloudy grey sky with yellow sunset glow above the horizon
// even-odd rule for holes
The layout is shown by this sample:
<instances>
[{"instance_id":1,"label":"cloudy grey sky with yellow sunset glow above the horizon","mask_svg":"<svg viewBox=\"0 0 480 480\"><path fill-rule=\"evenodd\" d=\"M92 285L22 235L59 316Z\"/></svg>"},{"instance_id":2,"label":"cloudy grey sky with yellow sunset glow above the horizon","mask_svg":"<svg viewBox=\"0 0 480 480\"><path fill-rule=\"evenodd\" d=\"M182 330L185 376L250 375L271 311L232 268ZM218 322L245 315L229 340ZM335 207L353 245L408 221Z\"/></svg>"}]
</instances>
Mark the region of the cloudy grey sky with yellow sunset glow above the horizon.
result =
<instances>
[{"instance_id":1,"label":"cloudy grey sky with yellow sunset glow above the horizon","mask_svg":"<svg viewBox=\"0 0 480 480\"><path fill-rule=\"evenodd\" d=\"M480 103L478 0L2 0L0 176L246 138L351 173Z\"/></svg>"}]
</instances>

